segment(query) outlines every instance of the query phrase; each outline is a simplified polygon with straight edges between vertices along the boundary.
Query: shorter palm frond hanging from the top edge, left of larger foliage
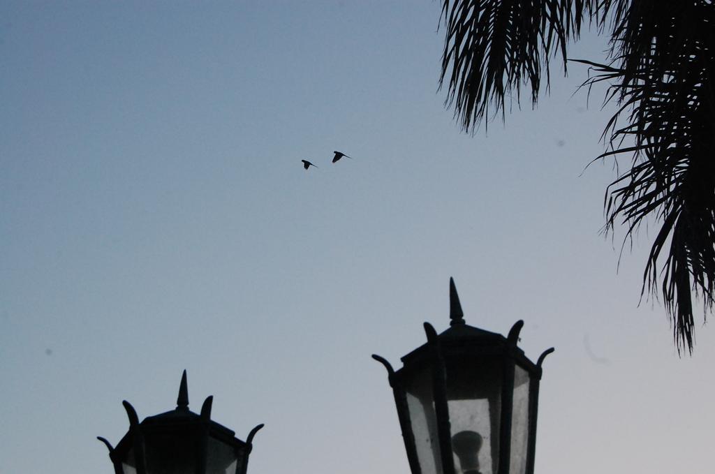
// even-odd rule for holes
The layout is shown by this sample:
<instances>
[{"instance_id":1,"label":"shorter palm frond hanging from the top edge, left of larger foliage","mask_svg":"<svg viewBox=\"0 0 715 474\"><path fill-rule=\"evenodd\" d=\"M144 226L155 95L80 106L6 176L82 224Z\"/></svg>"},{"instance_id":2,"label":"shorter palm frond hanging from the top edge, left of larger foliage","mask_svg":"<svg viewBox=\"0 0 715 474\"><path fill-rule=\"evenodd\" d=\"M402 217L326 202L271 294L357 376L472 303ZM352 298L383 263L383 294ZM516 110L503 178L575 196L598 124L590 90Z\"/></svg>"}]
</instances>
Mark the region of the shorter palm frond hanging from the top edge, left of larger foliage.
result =
<instances>
[{"instance_id":1,"label":"shorter palm frond hanging from the top edge, left of larger foliage","mask_svg":"<svg viewBox=\"0 0 715 474\"><path fill-rule=\"evenodd\" d=\"M566 72L566 43L578 37L583 13L596 0L443 0L445 46L440 88L463 129L489 116L504 117L506 99L521 99L531 87L536 104L542 69L549 85L549 59L561 54Z\"/></svg>"}]
</instances>

